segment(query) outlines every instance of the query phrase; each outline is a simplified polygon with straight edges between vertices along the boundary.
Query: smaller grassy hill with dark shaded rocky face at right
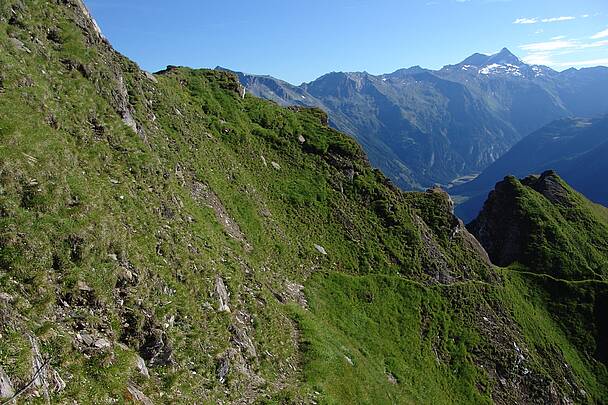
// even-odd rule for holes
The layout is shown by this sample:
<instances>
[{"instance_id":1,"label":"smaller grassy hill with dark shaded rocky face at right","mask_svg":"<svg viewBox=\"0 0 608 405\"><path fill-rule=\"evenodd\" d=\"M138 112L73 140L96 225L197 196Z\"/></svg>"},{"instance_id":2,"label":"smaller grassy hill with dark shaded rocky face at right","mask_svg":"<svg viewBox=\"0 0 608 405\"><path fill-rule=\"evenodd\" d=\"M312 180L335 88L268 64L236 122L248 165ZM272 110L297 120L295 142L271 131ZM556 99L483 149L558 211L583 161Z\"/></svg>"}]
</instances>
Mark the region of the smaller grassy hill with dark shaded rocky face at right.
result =
<instances>
[{"instance_id":1,"label":"smaller grassy hill with dark shaded rocky face at right","mask_svg":"<svg viewBox=\"0 0 608 405\"><path fill-rule=\"evenodd\" d=\"M507 291L523 298L512 301L521 302L517 310L522 312L516 317L530 322L524 330L538 342L533 345L545 346L552 338L570 341L579 353L593 359L591 365L599 366L592 385L605 387L606 209L548 171L521 181L505 178L468 227L495 263L511 266L505 273ZM548 319L542 319L539 310L549 314ZM562 336L546 330L551 323L559 326ZM564 348L564 355L571 349Z\"/></svg>"}]
</instances>

